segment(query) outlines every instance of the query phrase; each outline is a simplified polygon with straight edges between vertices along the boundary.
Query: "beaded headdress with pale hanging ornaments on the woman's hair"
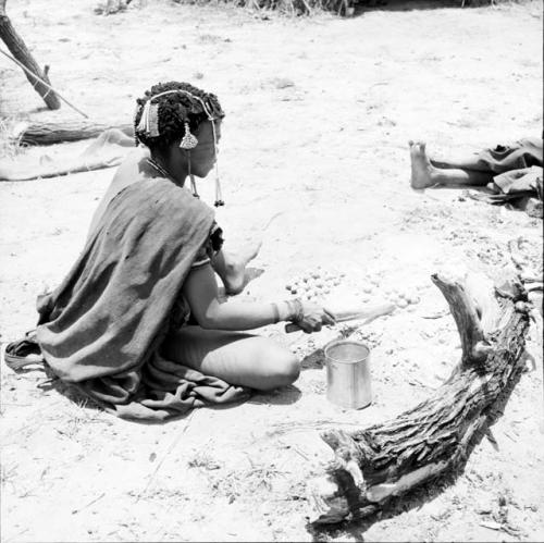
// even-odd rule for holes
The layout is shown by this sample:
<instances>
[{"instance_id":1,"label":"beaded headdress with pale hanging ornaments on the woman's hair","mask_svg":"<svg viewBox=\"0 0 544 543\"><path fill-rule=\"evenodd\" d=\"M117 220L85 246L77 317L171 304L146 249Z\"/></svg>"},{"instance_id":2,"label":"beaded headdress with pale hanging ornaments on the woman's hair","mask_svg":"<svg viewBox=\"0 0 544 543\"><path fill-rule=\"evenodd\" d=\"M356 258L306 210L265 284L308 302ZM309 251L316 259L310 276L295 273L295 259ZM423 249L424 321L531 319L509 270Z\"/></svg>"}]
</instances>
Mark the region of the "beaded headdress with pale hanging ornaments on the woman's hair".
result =
<instances>
[{"instance_id":1,"label":"beaded headdress with pale hanging ornaments on the woman's hair","mask_svg":"<svg viewBox=\"0 0 544 543\"><path fill-rule=\"evenodd\" d=\"M144 109L141 110L141 116L138 123L138 126L136 127L137 133L144 133L148 137L158 137L160 136L160 131L159 131L159 103L153 102L153 100L157 100L157 98L160 98L161 96L165 95L173 95L173 94L180 94L180 95L185 95L188 96L189 98L193 98L200 102L202 106L202 110L208 116L208 121L211 123L211 129L213 133L213 150L215 153L215 207L224 206L225 202L223 201L223 196L221 193L221 185L219 182L219 168L218 168L218 137L215 133L215 123L214 121L217 119L220 119L220 116L215 116L213 114L213 108L211 104L207 104L205 100L202 100L199 96L195 96L193 92L189 92L188 90L184 89L173 89L173 90L165 90L164 92L159 92L158 95L151 96L147 102L144 104ZM138 114L140 106L136 108L136 113L135 115ZM184 120L184 136L182 138L182 141L180 143L180 148L185 149L186 151L190 152L190 149L194 149L198 145L198 139L196 138L195 135L190 133L189 129L189 120L188 118ZM189 156L189 178L190 178L190 184L193 187L193 194L198 197L197 189L196 189L196 183L195 183L195 176L193 173L190 173L190 156Z\"/></svg>"}]
</instances>

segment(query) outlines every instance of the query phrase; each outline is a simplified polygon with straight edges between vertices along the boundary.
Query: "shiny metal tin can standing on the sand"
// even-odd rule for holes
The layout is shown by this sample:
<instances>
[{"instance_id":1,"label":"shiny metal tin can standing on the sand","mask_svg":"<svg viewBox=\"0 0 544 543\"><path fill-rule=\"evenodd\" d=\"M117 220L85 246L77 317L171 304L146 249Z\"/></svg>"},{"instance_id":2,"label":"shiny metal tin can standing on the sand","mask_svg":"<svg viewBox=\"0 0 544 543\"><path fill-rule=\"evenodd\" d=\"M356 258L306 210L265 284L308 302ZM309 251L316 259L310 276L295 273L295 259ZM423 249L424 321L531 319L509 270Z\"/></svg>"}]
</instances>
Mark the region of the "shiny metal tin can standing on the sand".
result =
<instances>
[{"instance_id":1,"label":"shiny metal tin can standing on the sand","mask_svg":"<svg viewBox=\"0 0 544 543\"><path fill-rule=\"evenodd\" d=\"M325 346L324 354L329 402L351 409L370 405L370 349L359 342L336 340Z\"/></svg>"}]
</instances>

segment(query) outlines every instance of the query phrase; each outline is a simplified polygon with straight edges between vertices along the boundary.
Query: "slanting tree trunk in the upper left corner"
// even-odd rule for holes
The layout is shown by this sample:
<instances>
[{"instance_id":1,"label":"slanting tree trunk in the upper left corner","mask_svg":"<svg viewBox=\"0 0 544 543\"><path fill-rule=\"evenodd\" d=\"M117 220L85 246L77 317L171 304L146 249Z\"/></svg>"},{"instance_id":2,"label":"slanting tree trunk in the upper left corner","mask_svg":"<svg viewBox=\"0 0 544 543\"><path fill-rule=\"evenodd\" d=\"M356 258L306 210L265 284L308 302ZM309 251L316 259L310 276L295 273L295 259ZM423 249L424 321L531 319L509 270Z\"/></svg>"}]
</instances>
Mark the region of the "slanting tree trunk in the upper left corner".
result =
<instances>
[{"instance_id":1,"label":"slanting tree trunk in the upper left corner","mask_svg":"<svg viewBox=\"0 0 544 543\"><path fill-rule=\"evenodd\" d=\"M17 34L10 21L10 17L7 15L5 0L0 1L0 38L8 46L8 49L18 62L21 62L33 74L37 75L40 79L44 79L47 84L50 85L47 74L48 69L46 67L46 70L42 71L39 67L38 63L34 60L34 57L23 41L23 38ZM46 85L44 85L28 72L24 71L24 73L36 92L38 92L39 96L44 98L44 101L49 109L57 110L61 107L59 97L53 90L46 87Z\"/></svg>"}]
</instances>

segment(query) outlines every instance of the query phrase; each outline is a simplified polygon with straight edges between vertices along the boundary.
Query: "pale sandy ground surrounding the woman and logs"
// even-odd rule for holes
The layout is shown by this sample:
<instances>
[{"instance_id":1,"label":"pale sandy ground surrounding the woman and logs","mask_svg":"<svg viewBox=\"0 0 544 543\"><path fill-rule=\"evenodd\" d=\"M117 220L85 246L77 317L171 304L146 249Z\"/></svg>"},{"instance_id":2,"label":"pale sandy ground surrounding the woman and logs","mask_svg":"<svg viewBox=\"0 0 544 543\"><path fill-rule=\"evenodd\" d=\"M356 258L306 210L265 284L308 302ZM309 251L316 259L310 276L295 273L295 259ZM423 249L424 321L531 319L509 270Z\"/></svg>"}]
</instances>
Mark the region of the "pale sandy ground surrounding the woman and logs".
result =
<instances>
[{"instance_id":1,"label":"pale sandy ground surrounding the woman and logs","mask_svg":"<svg viewBox=\"0 0 544 543\"><path fill-rule=\"evenodd\" d=\"M8 3L53 84L99 121L132 119L135 97L156 81L186 79L219 95L227 206L218 221L227 244L255 237L281 212L255 262L265 272L242 296L283 299L287 281L322 266L421 301L356 331L372 347L374 402L360 411L325 399L320 348L341 326L312 336L262 330L304 358L294 386L162 425L85 408L44 373L2 365L2 541L544 540L534 330L536 369L522 375L493 428L496 443L483 440L463 473L371 523L321 535L307 526L306 483L331 458L319 431L394 417L459 360L454 321L430 274L454 267L494 276L518 236L542 264L542 222L456 190L412 192L407 150L410 138L452 155L540 135L541 2L406 4L415 9L393 3L339 20L159 0L108 17L89 0ZM76 116L66 107L42 111L8 61L0 77L8 121ZM111 176L0 184L3 343L35 325L36 295L71 267ZM211 183L200 185L211 201Z\"/></svg>"}]
</instances>

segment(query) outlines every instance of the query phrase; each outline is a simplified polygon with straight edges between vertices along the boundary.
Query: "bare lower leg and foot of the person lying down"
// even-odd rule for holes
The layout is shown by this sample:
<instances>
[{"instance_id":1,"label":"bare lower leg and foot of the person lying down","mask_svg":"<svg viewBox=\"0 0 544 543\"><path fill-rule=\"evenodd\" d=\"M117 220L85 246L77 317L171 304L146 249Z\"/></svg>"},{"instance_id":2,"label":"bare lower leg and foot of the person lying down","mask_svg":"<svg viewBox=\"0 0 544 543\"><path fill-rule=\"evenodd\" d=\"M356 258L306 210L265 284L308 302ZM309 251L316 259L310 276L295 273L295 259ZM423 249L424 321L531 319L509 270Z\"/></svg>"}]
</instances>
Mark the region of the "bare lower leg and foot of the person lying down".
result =
<instances>
[{"instance_id":1,"label":"bare lower leg and foot of the person lying down","mask_svg":"<svg viewBox=\"0 0 544 543\"><path fill-rule=\"evenodd\" d=\"M413 188L486 186L493 183L492 172L435 168L426 156L425 144L421 141L410 141L410 161Z\"/></svg>"}]
</instances>

